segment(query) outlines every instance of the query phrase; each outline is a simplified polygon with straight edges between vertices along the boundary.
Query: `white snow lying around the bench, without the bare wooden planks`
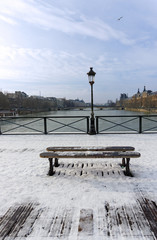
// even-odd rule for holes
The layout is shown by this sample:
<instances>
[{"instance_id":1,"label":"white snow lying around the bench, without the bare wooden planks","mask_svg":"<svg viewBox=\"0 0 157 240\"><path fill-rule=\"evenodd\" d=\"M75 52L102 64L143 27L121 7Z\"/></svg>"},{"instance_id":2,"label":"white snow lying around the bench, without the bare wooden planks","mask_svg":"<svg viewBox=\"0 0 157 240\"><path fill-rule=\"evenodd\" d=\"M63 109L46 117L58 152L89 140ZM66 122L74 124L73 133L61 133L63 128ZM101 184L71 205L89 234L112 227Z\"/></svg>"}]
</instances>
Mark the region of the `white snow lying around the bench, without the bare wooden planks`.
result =
<instances>
[{"instance_id":1,"label":"white snow lying around the bench, without the bare wooden planks","mask_svg":"<svg viewBox=\"0 0 157 240\"><path fill-rule=\"evenodd\" d=\"M90 174L89 165L86 165L89 174L80 176L77 169L67 168L64 174L50 177L47 175L48 160L39 157L50 146L125 145L133 146L141 153L140 158L131 159L130 162L134 177L108 174L110 170L122 172L118 165L120 159L61 159L60 162L64 163L94 163L96 170L104 167L104 176ZM108 169L110 166L112 169ZM140 195L157 203L156 134L0 136L0 218L10 207L20 204L33 203L38 213L41 211L36 224L31 226L33 230L18 239L52 239L50 234L46 235L45 228L48 219L56 212L57 216L69 214L71 230L58 237L54 235L53 239L155 239L145 238L143 233L136 237L132 233L127 235L122 228L116 234L114 230L113 235L110 229L107 235L105 223L101 223L107 204L114 209L136 206ZM81 221L87 227L83 231L79 229Z\"/></svg>"}]
</instances>

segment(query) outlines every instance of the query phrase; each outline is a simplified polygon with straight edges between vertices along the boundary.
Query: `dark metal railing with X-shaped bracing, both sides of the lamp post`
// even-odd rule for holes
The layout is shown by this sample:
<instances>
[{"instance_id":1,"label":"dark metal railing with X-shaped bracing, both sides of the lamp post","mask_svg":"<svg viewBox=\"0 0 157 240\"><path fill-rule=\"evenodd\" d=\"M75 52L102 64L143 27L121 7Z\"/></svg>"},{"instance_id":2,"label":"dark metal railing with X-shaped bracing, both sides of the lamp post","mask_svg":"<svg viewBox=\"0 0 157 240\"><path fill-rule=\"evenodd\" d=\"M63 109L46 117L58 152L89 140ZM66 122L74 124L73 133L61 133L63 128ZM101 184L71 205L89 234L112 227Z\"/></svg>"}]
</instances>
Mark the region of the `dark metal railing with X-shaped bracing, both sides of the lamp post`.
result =
<instances>
[{"instance_id":1,"label":"dark metal railing with X-shaped bracing, both sides of the lamp post","mask_svg":"<svg viewBox=\"0 0 157 240\"><path fill-rule=\"evenodd\" d=\"M1 117L0 134L89 133L89 116ZM157 133L157 115L96 116L96 133Z\"/></svg>"}]
</instances>

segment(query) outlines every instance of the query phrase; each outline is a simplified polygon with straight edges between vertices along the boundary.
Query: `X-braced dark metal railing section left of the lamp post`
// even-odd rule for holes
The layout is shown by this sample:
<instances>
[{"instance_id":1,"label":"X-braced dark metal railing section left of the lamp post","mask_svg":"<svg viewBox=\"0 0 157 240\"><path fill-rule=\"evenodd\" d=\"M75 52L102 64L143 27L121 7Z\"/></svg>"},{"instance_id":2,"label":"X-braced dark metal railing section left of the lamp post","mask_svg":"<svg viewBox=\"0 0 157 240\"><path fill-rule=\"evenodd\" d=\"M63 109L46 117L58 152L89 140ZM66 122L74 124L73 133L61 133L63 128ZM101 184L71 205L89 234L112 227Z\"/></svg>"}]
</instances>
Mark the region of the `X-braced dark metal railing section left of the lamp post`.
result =
<instances>
[{"instance_id":1,"label":"X-braced dark metal railing section left of the lamp post","mask_svg":"<svg viewBox=\"0 0 157 240\"><path fill-rule=\"evenodd\" d=\"M1 134L88 133L89 116L1 117Z\"/></svg>"}]
</instances>

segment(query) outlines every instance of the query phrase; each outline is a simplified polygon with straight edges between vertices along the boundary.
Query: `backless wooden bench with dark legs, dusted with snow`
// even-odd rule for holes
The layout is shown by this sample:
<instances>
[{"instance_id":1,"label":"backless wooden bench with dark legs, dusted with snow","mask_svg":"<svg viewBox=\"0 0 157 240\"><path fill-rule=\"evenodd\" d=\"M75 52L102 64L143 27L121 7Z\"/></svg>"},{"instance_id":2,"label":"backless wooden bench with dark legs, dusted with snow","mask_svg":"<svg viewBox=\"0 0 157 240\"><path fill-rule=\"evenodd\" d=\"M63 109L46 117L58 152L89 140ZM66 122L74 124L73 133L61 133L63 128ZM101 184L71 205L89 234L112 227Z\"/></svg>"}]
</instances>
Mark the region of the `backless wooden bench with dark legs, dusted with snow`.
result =
<instances>
[{"instance_id":1,"label":"backless wooden bench with dark legs, dusted with snow","mask_svg":"<svg viewBox=\"0 0 157 240\"><path fill-rule=\"evenodd\" d=\"M122 158L122 166L126 167L126 175L130 176L130 158L140 157L140 153L133 152L134 147L114 146L114 147L48 147L48 152L40 154L41 158L49 159L49 175L55 172L53 167L58 167L59 158ZM53 159L54 165L53 165ZM126 159L126 161L125 161Z\"/></svg>"}]
</instances>

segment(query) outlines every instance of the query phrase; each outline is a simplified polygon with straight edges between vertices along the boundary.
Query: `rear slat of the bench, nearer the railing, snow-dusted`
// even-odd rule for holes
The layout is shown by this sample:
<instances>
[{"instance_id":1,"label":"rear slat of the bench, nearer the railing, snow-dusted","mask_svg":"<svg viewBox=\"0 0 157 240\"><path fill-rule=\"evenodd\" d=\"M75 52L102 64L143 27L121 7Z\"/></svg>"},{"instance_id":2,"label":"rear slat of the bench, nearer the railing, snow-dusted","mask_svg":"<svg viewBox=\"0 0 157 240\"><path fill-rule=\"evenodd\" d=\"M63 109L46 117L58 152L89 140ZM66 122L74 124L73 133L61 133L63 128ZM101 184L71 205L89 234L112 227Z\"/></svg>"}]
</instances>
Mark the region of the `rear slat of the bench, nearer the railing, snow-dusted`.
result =
<instances>
[{"instance_id":1,"label":"rear slat of the bench, nearer the railing, snow-dusted","mask_svg":"<svg viewBox=\"0 0 157 240\"><path fill-rule=\"evenodd\" d=\"M47 151L134 151L131 146L108 146L108 147L48 147Z\"/></svg>"}]
</instances>

